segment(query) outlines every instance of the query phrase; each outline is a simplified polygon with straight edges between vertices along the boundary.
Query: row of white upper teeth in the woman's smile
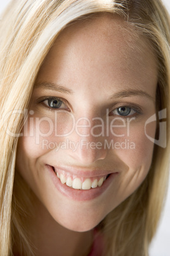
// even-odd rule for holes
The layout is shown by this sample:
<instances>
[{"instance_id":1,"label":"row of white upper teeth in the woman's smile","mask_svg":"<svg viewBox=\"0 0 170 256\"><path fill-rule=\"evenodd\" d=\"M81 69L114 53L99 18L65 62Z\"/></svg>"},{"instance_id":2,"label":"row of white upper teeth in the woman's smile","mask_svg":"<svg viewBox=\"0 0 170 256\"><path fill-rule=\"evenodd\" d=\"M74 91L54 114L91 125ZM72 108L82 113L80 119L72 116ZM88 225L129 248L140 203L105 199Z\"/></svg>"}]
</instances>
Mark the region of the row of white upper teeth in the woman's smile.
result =
<instances>
[{"instance_id":1,"label":"row of white upper teeth in the woman's smile","mask_svg":"<svg viewBox=\"0 0 170 256\"><path fill-rule=\"evenodd\" d=\"M63 173L56 173L57 177L60 179L62 184L65 184L69 187L75 189L88 190L90 188L101 187L103 181L106 180L107 176L103 176L100 179L95 178L95 180L91 178L86 178L85 180L81 180L81 178L72 179L70 176L65 176Z\"/></svg>"}]
</instances>

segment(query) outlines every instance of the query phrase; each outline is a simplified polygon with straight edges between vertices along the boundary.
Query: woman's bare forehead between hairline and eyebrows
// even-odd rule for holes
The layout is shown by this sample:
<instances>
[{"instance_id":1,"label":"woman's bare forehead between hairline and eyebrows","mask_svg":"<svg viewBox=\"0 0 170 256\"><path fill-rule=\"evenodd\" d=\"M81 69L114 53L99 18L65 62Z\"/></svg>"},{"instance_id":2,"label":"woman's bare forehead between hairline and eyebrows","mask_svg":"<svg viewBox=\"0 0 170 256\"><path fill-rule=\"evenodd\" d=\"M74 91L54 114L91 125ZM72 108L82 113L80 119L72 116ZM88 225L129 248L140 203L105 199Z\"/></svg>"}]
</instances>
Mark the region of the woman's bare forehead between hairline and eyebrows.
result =
<instances>
[{"instance_id":1,"label":"woman's bare forehead between hairline and eyebrows","mask_svg":"<svg viewBox=\"0 0 170 256\"><path fill-rule=\"evenodd\" d=\"M157 58L152 45L117 15L92 15L68 25L49 51L39 75L48 70L49 80L54 73L67 80L68 72L87 78L86 74L97 73L96 69L107 77L112 74L110 79L117 81L114 85L118 88L133 87L134 83L147 85L150 77L153 84L157 83Z\"/></svg>"}]
</instances>

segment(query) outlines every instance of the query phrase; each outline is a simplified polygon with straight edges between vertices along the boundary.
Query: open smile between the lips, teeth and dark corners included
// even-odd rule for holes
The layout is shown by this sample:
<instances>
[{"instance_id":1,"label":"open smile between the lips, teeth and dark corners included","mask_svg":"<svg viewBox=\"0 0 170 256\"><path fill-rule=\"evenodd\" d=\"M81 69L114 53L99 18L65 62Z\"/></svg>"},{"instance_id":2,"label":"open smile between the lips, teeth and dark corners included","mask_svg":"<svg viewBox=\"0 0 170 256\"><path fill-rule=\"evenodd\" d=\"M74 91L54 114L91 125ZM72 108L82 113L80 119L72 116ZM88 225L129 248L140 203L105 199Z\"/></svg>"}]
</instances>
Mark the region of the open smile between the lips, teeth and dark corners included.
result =
<instances>
[{"instance_id":1,"label":"open smile between the lips, teeth and dark corners included","mask_svg":"<svg viewBox=\"0 0 170 256\"><path fill-rule=\"evenodd\" d=\"M91 188L101 187L101 185L103 185L103 182L105 182L108 176L110 176L110 174L107 174L105 176L84 178L81 176L70 175L68 173L65 173L65 171L56 171L55 167L51 167L62 184L65 184L70 188L79 190L89 190Z\"/></svg>"}]
</instances>

